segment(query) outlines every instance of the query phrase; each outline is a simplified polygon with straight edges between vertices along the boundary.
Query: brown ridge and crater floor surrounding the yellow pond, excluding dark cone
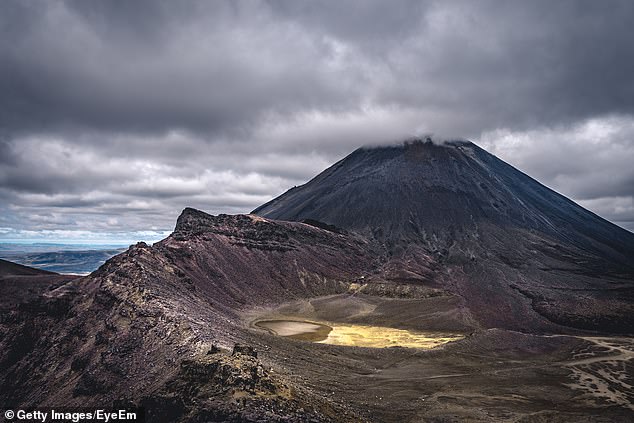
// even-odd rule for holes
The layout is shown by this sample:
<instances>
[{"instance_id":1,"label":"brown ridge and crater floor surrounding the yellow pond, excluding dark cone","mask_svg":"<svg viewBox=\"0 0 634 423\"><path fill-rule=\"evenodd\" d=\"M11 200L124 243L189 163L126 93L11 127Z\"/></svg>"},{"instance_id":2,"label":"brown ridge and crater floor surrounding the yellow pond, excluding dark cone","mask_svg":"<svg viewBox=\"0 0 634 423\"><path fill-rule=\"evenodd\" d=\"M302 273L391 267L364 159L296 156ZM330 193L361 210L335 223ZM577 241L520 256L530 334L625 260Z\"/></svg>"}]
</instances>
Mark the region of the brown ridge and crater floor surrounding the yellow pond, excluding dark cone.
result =
<instances>
[{"instance_id":1,"label":"brown ridge and crater floor surrounding the yellow pond, excluding dark cone","mask_svg":"<svg viewBox=\"0 0 634 423\"><path fill-rule=\"evenodd\" d=\"M165 240L34 293L0 315L0 405L140 405L152 422L631 420L631 338L478 330L459 295L426 286L453 273L423 250L386 260L314 225L186 209ZM278 317L467 336L358 348L255 327Z\"/></svg>"}]
</instances>

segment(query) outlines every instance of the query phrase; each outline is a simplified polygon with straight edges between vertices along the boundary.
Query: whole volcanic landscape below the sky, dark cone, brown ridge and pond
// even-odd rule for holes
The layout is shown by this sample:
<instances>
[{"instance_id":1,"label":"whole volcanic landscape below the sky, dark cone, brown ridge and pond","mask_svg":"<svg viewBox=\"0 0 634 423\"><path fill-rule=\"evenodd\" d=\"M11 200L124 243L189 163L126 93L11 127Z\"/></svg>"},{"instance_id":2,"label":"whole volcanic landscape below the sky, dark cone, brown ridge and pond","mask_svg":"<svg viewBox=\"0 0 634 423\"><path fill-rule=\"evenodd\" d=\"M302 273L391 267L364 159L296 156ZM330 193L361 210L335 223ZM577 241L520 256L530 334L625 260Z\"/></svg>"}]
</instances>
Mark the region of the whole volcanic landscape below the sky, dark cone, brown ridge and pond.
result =
<instances>
[{"instance_id":1,"label":"whole volcanic landscape below the sky, dark cone, brown ridge and pond","mask_svg":"<svg viewBox=\"0 0 634 423\"><path fill-rule=\"evenodd\" d=\"M85 277L0 262L0 404L632 421L633 266L633 234L470 142L361 148Z\"/></svg>"}]
</instances>

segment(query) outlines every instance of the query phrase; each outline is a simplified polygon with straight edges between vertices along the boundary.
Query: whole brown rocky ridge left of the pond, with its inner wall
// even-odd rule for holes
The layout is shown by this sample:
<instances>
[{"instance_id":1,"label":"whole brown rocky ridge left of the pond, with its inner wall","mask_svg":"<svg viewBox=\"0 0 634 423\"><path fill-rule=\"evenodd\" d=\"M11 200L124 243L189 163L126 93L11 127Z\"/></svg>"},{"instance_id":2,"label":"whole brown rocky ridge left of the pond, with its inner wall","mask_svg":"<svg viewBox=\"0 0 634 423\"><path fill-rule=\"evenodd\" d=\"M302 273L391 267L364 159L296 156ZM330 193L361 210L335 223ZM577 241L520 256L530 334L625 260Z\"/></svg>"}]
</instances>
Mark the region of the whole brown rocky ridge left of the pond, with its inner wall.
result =
<instances>
[{"instance_id":1,"label":"whole brown rocky ridge left of the pond, with its inner wall","mask_svg":"<svg viewBox=\"0 0 634 423\"><path fill-rule=\"evenodd\" d=\"M0 405L141 405L152 422L356 421L244 346L265 349L240 312L346 293L376 256L355 235L185 209L165 240L2 314Z\"/></svg>"}]
</instances>

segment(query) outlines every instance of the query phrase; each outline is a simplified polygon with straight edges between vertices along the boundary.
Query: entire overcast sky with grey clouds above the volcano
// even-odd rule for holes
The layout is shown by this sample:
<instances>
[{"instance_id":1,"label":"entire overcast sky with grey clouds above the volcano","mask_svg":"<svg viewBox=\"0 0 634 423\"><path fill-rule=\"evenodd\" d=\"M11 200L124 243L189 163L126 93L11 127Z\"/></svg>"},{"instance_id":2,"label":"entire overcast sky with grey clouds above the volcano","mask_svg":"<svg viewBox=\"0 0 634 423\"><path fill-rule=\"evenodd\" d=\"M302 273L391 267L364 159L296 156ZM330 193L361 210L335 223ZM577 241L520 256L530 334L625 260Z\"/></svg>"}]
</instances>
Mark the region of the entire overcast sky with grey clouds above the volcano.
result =
<instances>
[{"instance_id":1,"label":"entire overcast sky with grey clouds above the volcano","mask_svg":"<svg viewBox=\"0 0 634 423\"><path fill-rule=\"evenodd\" d=\"M152 240L466 138L634 230L634 2L2 1L0 241Z\"/></svg>"}]
</instances>

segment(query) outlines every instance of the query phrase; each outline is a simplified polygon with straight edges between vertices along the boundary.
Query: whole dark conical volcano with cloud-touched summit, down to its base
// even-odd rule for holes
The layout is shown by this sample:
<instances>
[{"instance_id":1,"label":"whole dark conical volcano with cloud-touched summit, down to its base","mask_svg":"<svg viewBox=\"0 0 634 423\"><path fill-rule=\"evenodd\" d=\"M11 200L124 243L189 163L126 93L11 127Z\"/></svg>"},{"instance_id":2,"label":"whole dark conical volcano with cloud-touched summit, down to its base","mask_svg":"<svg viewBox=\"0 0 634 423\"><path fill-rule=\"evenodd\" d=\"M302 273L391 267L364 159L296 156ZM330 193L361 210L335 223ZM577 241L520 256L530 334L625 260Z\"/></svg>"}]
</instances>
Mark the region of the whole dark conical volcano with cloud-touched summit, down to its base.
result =
<instances>
[{"instance_id":1,"label":"whole dark conical volcano with cloud-touched summit, down to its base","mask_svg":"<svg viewBox=\"0 0 634 423\"><path fill-rule=\"evenodd\" d=\"M471 142L360 148L253 213L362 234L402 273L431 257L414 282L483 327L634 328L634 234Z\"/></svg>"}]
</instances>

